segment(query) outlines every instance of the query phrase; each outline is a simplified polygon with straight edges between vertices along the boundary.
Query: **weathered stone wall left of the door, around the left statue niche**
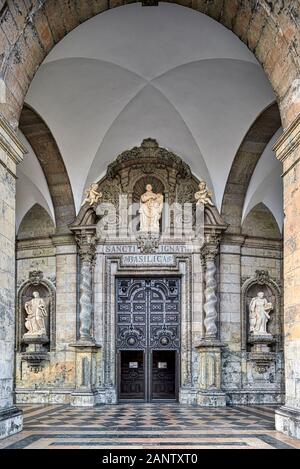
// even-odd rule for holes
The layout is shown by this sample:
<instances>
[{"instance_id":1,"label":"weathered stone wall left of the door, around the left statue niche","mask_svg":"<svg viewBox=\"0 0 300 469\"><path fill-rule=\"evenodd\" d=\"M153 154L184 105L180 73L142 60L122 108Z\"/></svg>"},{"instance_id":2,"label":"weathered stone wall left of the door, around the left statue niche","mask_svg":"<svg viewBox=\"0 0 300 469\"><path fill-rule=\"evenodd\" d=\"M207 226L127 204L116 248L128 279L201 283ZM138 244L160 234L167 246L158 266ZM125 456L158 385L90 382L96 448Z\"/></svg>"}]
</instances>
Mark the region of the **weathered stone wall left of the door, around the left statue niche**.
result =
<instances>
[{"instance_id":1,"label":"weathered stone wall left of the door, around the left statue niche","mask_svg":"<svg viewBox=\"0 0 300 469\"><path fill-rule=\"evenodd\" d=\"M77 253L73 237L27 239L18 242L18 286L31 271L41 271L56 287L53 343L41 367L34 370L22 357L16 356L17 402L69 403L75 387L75 354L69 344L76 340ZM18 316L22 321L23 316Z\"/></svg>"}]
</instances>

